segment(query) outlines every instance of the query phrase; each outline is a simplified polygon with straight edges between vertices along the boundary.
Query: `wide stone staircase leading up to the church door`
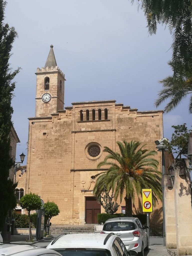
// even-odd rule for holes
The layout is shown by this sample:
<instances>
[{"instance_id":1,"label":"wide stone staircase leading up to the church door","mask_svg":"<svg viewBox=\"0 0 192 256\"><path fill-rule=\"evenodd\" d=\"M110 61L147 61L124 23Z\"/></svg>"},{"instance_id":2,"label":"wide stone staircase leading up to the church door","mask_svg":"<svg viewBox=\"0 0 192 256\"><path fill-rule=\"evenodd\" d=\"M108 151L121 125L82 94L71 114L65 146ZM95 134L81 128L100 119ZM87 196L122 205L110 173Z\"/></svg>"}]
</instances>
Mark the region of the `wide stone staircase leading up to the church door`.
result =
<instances>
[{"instance_id":1,"label":"wide stone staircase leading up to the church door","mask_svg":"<svg viewBox=\"0 0 192 256\"><path fill-rule=\"evenodd\" d=\"M76 233L94 233L94 224L86 225L51 225L50 233L51 235L60 235L62 233L66 234L76 234Z\"/></svg>"}]
</instances>

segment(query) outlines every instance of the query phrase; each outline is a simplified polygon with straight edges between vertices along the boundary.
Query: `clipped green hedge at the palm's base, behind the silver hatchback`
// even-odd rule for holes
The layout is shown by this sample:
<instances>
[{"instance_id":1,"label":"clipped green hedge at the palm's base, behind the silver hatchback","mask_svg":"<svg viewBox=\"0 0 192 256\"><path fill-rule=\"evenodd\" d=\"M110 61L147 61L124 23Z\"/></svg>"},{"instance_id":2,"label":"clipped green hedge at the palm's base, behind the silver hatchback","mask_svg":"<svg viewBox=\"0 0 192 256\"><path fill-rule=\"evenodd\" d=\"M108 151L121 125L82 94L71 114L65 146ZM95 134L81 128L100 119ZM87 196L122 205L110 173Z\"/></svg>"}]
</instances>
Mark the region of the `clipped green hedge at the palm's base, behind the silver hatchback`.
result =
<instances>
[{"instance_id":1,"label":"clipped green hedge at the palm's base, behind the silver hatchback","mask_svg":"<svg viewBox=\"0 0 192 256\"><path fill-rule=\"evenodd\" d=\"M116 214L108 214L108 213L99 213L97 215L97 220L99 224L104 224L106 220L108 219L112 219L112 218L117 218L117 217L126 217L125 214L123 213L116 213ZM143 225L145 225L146 221L147 221L147 215L146 214L136 214L133 215L133 217L137 217L138 219L140 219L141 223Z\"/></svg>"}]
</instances>

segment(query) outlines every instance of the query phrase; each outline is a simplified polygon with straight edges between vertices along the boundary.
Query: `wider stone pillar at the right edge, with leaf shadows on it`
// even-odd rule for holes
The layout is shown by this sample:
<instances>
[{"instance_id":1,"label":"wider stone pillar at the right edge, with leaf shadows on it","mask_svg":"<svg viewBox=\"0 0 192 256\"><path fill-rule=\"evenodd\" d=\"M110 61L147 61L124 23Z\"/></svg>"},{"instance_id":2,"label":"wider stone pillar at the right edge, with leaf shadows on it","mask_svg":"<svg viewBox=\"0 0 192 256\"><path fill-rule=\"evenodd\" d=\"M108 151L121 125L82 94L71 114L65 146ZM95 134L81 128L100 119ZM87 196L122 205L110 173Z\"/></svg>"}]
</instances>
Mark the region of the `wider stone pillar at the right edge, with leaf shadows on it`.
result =
<instances>
[{"instance_id":1,"label":"wider stone pillar at the right edge, with leaf shadows on it","mask_svg":"<svg viewBox=\"0 0 192 256\"><path fill-rule=\"evenodd\" d=\"M179 170L188 165L188 159L174 159L174 196L177 255L192 255L192 208L189 172L179 176Z\"/></svg>"}]
</instances>

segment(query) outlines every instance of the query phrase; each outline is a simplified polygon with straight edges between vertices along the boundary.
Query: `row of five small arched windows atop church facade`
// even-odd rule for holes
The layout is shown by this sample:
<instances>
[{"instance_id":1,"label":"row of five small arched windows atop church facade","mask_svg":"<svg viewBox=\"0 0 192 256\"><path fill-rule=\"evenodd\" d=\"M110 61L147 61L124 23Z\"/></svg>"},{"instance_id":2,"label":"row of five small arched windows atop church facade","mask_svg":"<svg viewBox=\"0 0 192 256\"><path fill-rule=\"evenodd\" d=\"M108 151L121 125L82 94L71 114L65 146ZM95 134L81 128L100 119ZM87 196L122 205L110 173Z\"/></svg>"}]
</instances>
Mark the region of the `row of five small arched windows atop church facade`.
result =
<instances>
[{"instance_id":1,"label":"row of five small arched windows atop church facade","mask_svg":"<svg viewBox=\"0 0 192 256\"><path fill-rule=\"evenodd\" d=\"M85 113L85 118L83 119L83 112ZM103 120L108 120L108 109L98 109L98 110L80 110L80 121L95 121L97 120L102 120L102 112L104 112L104 119ZM96 115L97 114L97 115Z\"/></svg>"}]
</instances>

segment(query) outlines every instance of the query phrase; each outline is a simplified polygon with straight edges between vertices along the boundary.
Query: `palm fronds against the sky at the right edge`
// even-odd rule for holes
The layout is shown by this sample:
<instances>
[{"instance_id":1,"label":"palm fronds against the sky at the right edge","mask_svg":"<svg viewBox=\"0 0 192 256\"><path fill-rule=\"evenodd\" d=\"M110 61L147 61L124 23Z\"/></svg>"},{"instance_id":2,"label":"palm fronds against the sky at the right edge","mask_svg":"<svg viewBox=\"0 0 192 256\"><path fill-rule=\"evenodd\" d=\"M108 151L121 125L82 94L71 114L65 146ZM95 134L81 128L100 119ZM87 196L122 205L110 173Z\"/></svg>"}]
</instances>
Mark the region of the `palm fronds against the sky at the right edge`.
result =
<instances>
[{"instance_id":1,"label":"palm fronds against the sky at the right edge","mask_svg":"<svg viewBox=\"0 0 192 256\"><path fill-rule=\"evenodd\" d=\"M169 61L168 65L175 70L174 62ZM182 69L182 66L181 66ZM181 72L182 73L182 70ZM192 72L191 70L185 70L185 77L178 76L168 76L162 81L159 81L163 88L158 93L158 99L155 101L156 108L163 103L165 100L170 99L170 101L165 106L164 111L166 113L170 112L178 106L178 104L187 97L188 94L192 93ZM189 100L189 113L192 114L192 95Z\"/></svg>"}]
</instances>

